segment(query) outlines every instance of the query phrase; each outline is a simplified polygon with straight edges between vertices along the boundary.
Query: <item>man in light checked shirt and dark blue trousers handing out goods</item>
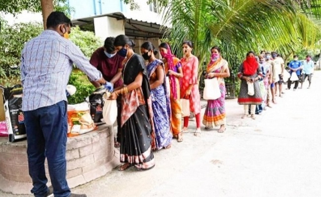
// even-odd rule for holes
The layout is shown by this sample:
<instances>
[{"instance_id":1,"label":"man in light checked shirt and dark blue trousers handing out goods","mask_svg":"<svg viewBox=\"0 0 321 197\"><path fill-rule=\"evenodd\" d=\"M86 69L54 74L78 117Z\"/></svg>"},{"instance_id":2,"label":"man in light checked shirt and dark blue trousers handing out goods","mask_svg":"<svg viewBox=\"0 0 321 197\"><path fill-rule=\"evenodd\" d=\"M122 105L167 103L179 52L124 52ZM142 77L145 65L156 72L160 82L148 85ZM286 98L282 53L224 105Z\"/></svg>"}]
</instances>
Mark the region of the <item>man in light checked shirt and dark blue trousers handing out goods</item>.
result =
<instances>
[{"instance_id":1,"label":"man in light checked shirt and dark blue trousers handing out goods","mask_svg":"<svg viewBox=\"0 0 321 197\"><path fill-rule=\"evenodd\" d=\"M73 42L66 39L71 21L63 12L52 12L47 30L28 41L21 53L22 110L27 132L31 193L47 197L86 197L72 194L66 180L67 97L66 86L73 63L91 81L106 84L100 71ZM107 84L108 85L108 84ZM52 188L46 186L47 158Z\"/></svg>"}]
</instances>

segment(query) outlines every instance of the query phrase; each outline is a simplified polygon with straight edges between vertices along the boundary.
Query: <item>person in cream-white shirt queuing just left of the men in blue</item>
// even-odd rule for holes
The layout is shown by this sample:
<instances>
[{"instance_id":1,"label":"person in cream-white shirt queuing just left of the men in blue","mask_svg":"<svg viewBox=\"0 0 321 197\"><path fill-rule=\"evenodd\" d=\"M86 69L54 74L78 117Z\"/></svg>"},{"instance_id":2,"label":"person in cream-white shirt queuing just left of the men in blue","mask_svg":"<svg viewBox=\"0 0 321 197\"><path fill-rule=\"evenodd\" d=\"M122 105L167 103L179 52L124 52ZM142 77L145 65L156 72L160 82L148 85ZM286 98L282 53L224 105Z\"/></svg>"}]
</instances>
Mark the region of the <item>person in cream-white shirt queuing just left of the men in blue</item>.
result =
<instances>
[{"instance_id":1,"label":"person in cream-white shirt queuing just left of the men in blue","mask_svg":"<svg viewBox=\"0 0 321 197\"><path fill-rule=\"evenodd\" d=\"M277 52L272 52L272 58L274 63L274 76L275 80L275 94L278 95L279 87L279 96L282 97L282 84L283 84L283 72L284 72L284 60Z\"/></svg>"}]
</instances>

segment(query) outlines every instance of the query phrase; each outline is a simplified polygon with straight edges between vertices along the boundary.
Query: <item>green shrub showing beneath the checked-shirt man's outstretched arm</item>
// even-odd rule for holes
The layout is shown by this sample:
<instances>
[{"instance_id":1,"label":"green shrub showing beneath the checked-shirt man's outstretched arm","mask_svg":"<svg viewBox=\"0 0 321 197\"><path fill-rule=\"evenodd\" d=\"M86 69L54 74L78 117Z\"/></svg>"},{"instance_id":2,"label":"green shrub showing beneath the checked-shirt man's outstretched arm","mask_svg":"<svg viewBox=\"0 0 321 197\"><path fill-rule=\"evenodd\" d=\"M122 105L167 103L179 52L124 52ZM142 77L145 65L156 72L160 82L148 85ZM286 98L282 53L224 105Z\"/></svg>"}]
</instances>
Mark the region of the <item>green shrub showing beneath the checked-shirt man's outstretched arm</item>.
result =
<instances>
[{"instance_id":1,"label":"green shrub showing beneath the checked-shirt man's outstretched arm","mask_svg":"<svg viewBox=\"0 0 321 197\"><path fill-rule=\"evenodd\" d=\"M75 95L68 98L69 104L83 102L86 97L95 91L95 87L89 82L86 75L78 70L72 72L68 84L74 85L77 89Z\"/></svg>"}]
</instances>

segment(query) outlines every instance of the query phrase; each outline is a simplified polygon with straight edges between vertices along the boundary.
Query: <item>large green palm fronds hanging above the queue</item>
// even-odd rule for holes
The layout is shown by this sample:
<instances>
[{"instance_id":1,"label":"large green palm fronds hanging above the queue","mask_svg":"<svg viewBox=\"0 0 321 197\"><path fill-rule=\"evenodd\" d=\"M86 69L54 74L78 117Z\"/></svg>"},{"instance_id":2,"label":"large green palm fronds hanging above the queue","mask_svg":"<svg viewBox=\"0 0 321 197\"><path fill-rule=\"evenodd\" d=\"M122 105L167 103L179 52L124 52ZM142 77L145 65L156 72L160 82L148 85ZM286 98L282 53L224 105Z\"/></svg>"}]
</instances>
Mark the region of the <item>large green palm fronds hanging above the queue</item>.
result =
<instances>
[{"instance_id":1,"label":"large green palm fronds hanging above the queue","mask_svg":"<svg viewBox=\"0 0 321 197\"><path fill-rule=\"evenodd\" d=\"M164 10L174 50L181 51L182 41L189 39L202 63L217 44L233 69L249 50L288 55L313 47L321 37L319 26L293 0L168 0Z\"/></svg>"}]
</instances>

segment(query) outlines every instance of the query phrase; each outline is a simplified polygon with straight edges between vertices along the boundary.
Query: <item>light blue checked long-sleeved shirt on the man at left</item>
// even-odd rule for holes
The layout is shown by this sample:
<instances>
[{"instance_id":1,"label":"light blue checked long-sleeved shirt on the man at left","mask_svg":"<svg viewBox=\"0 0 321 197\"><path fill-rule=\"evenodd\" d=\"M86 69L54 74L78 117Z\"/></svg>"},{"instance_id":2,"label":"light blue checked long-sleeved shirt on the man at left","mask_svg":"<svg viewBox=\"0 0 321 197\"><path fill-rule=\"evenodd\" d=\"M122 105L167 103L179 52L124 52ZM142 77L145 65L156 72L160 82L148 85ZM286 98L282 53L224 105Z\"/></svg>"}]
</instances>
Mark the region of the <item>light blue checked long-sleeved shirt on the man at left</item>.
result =
<instances>
[{"instance_id":1,"label":"light blue checked long-sleeved shirt on the man at left","mask_svg":"<svg viewBox=\"0 0 321 197\"><path fill-rule=\"evenodd\" d=\"M73 63L91 80L102 77L79 47L52 30L28 41L21 54L22 110L31 111L67 100Z\"/></svg>"}]
</instances>

